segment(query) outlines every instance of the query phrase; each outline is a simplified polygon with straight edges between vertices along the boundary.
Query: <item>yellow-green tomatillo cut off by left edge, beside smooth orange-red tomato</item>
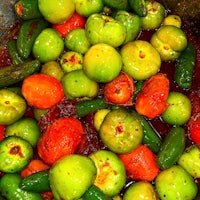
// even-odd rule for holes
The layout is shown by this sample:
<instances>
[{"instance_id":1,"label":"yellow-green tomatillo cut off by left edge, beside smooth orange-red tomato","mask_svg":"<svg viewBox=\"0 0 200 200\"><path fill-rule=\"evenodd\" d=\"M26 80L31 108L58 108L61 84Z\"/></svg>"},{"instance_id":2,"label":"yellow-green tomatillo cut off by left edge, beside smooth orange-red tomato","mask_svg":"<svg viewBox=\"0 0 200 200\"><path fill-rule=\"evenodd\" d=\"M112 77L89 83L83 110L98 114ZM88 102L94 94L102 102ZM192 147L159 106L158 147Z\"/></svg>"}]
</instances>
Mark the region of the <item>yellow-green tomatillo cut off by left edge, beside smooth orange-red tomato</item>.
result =
<instances>
[{"instance_id":1,"label":"yellow-green tomatillo cut off by left edge, beside smooth orange-red tomato","mask_svg":"<svg viewBox=\"0 0 200 200\"><path fill-rule=\"evenodd\" d=\"M26 112L24 98L8 89L0 90L0 124L9 125L20 119Z\"/></svg>"}]
</instances>

